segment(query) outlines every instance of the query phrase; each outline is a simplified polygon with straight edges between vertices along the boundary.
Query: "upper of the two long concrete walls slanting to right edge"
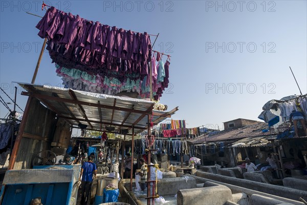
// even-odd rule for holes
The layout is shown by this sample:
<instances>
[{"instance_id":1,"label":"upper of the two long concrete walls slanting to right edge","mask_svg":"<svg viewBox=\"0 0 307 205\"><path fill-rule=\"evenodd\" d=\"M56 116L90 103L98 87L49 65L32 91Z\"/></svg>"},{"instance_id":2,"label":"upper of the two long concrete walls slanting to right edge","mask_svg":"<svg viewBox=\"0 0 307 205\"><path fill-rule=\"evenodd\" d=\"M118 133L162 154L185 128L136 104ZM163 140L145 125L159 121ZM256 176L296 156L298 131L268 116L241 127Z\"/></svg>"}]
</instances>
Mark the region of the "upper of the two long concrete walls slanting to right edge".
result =
<instances>
[{"instance_id":1,"label":"upper of the two long concrete walls slanting to right edge","mask_svg":"<svg viewBox=\"0 0 307 205\"><path fill-rule=\"evenodd\" d=\"M260 183L256 181L250 181L246 179L238 179L228 176L222 176L217 174L210 174L206 172L198 171L196 172L196 176L212 179L215 181L221 181L224 183L229 183L231 185L244 187L247 189L265 192L267 194L272 194L280 197L285 197L293 200L298 200L299 197L303 197L305 200L307 199L307 191L291 189L287 187L280 187L275 185L270 185L266 183Z\"/></svg>"}]
</instances>

